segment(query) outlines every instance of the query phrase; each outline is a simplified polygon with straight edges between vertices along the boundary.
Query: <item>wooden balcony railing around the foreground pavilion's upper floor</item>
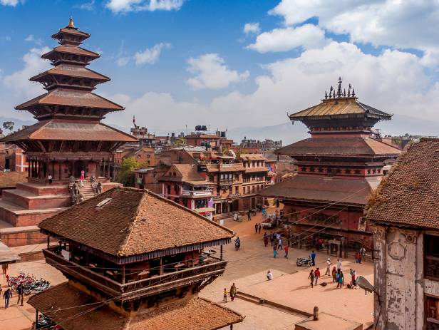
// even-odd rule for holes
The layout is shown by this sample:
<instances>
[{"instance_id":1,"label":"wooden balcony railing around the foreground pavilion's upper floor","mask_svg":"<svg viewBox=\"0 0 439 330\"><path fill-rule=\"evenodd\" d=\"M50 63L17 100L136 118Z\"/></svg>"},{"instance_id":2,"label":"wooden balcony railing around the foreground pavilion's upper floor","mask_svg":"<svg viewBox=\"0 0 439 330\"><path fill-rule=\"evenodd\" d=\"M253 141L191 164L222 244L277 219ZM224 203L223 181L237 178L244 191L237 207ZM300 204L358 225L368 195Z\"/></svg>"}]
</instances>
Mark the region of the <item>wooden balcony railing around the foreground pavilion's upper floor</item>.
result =
<instances>
[{"instance_id":1,"label":"wooden balcony railing around the foreground pavilion's upper floor","mask_svg":"<svg viewBox=\"0 0 439 330\"><path fill-rule=\"evenodd\" d=\"M109 297L120 297L121 301L148 297L217 277L224 272L227 264L227 261L210 257L199 266L122 284L76 262L68 261L51 249L43 249L43 254L46 262L60 270L67 278L76 279Z\"/></svg>"}]
</instances>

